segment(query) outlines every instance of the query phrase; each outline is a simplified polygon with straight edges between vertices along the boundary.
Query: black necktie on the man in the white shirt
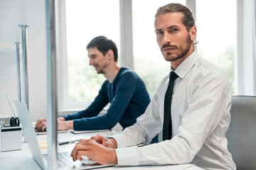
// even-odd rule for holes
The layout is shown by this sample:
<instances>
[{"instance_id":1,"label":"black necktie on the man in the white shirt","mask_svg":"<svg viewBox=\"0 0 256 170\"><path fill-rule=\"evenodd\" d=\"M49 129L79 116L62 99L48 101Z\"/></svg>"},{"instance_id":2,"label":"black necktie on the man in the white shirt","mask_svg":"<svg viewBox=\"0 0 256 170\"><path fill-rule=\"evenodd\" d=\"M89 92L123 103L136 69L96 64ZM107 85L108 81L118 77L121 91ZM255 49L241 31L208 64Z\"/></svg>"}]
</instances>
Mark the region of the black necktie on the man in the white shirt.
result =
<instances>
[{"instance_id":1,"label":"black necktie on the man in the white shirt","mask_svg":"<svg viewBox=\"0 0 256 170\"><path fill-rule=\"evenodd\" d=\"M163 126L163 140L171 140L171 96L174 89L174 80L178 77L175 72L171 72L169 76L169 85L164 97L164 126Z\"/></svg>"}]
</instances>

